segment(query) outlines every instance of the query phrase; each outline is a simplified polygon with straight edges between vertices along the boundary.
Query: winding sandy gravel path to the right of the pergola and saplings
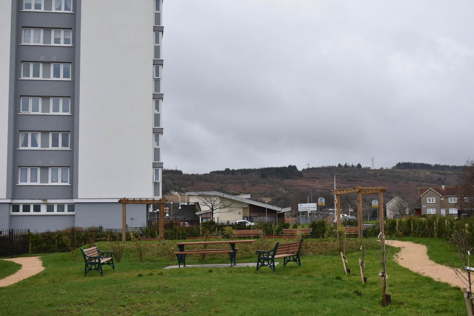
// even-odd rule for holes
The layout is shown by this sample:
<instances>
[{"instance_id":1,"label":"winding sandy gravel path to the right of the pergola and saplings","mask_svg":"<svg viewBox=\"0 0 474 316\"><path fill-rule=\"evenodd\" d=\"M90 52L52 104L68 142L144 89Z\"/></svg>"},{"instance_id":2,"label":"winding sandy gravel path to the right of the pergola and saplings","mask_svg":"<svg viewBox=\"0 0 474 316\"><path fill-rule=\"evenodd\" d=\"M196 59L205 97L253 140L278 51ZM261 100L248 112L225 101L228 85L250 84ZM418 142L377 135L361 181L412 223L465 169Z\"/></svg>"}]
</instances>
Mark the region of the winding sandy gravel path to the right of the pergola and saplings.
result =
<instances>
[{"instance_id":1,"label":"winding sandy gravel path to the right of the pergola and saplings","mask_svg":"<svg viewBox=\"0 0 474 316\"><path fill-rule=\"evenodd\" d=\"M458 286L461 289L466 287L451 268L429 260L427 248L424 244L394 240L392 245L401 248L401 251L393 256L401 266L434 280ZM463 274L466 275L465 272Z\"/></svg>"}]
</instances>

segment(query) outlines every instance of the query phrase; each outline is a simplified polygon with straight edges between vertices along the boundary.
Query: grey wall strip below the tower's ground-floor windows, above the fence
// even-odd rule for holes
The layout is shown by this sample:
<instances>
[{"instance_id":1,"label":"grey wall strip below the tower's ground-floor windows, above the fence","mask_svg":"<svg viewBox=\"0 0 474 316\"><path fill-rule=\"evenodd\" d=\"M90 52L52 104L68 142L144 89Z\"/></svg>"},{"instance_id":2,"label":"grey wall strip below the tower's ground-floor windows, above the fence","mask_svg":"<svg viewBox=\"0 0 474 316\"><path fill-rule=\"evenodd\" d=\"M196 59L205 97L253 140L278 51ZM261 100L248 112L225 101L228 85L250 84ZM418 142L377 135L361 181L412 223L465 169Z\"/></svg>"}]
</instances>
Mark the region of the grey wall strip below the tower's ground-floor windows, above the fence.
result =
<instances>
[{"instance_id":1,"label":"grey wall strip below the tower's ground-floor windows, above the fence","mask_svg":"<svg viewBox=\"0 0 474 316\"><path fill-rule=\"evenodd\" d=\"M54 231L74 226L74 215L12 215L10 228L29 228L30 232Z\"/></svg>"}]
</instances>

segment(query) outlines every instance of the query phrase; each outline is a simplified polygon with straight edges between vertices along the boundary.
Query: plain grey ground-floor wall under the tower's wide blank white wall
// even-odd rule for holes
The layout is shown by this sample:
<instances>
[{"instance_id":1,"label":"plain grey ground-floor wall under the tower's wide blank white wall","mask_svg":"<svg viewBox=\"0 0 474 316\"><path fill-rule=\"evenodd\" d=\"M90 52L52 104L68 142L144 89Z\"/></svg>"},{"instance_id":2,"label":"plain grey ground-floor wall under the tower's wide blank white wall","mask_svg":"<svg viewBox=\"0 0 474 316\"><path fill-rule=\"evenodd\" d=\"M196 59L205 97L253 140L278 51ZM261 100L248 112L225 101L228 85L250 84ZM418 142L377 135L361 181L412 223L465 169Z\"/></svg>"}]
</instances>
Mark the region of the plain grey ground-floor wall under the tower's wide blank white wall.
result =
<instances>
[{"instance_id":1,"label":"plain grey ground-floor wall under the tower's wide blank white wall","mask_svg":"<svg viewBox=\"0 0 474 316\"><path fill-rule=\"evenodd\" d=\"M75 203L75 225L81 227L100 226L122 228L122 205L120 203ZM127 204L127 225L146 226L146 205Z\"/></svg>"}]
</instances>

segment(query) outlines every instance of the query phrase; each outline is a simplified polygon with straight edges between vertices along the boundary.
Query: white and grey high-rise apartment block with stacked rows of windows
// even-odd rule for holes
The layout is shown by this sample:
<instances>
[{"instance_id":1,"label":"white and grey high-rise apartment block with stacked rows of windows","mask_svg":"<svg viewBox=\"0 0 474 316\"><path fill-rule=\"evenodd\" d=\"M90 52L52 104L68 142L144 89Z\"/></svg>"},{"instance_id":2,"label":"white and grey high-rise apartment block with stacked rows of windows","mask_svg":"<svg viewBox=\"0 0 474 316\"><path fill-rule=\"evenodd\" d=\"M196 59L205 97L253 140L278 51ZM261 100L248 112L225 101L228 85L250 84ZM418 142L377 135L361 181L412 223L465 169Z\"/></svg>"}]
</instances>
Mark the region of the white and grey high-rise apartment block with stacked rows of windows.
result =
<instances>
[{"instance_id":1,"label":"white and grey high-rise apartment block with stacked rows of windows","mask_svg":"<svg viewBox=\"0 0 474 316\"><path fill-rule=\"evenodd\" d=\"M161 197L162 0L2 0L0 26L0 229L118 228L118 199Z\"/></svg>"}]
</instances>

